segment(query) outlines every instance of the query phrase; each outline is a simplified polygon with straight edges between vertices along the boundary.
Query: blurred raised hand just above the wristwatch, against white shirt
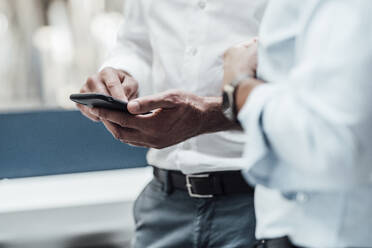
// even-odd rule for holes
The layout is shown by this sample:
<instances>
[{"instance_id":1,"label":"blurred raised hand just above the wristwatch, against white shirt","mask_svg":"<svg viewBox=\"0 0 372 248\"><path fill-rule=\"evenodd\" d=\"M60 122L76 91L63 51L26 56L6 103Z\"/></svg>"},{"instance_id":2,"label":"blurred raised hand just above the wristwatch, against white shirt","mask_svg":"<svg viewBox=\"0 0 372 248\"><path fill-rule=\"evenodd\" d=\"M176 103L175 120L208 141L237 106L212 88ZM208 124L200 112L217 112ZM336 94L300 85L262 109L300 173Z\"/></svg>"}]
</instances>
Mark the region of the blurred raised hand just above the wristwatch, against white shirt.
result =
<instances>
[{"instance_id":1,"label":"blurred raised hand just above the wristwatch, against white shirt","mask_svg":"<svg viewBox=\"0 0 372 248\"><path fill-rule=\"evenodd\" d=\"M242 76L256 78L258 39L229 48L224 55L224 85Z\"/></svg>"}]
</instances>

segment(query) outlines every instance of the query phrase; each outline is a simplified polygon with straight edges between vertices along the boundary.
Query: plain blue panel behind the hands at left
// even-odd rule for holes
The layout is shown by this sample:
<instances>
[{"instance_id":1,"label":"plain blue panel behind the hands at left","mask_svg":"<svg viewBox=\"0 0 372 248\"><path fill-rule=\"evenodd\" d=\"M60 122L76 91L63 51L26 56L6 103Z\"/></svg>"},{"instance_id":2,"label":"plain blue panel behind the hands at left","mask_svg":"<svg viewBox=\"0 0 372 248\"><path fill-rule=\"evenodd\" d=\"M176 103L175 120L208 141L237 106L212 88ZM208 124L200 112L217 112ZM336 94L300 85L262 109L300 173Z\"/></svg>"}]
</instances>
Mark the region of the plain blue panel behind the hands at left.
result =
<instances>
[{"instance_id":1,"label":"plain blue panel behind the hands at left","mask_svg":"<svg viewBox=\"0 0 372 248\"><path fill-rule=\"evenodd\" d=\"M0 114L0 178L144 167L146 152L77 111Z\"/></svg>"}]
</instances>

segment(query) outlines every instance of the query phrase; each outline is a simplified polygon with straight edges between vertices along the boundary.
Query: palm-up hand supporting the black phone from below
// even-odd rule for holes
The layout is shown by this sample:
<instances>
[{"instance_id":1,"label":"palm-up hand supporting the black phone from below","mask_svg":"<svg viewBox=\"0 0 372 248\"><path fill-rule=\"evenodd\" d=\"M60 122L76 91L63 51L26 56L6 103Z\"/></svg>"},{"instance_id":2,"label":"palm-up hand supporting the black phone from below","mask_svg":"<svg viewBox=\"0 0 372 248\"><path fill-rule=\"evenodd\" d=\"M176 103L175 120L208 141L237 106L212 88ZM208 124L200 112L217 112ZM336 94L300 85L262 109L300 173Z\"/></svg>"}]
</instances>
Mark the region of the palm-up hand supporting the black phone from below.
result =
<instances>
[{"instance_id":1,"label":"palm-up hand supporting the black phone from below","mask_svg":"<svg viewBox=\"0 0 372 248\"><path fill-rule=\"evenodd\" d=\"M199 97L171 90L135 99L130 114L93 109L112 135L135 146L165 148L208 132L234 128L221 112L221 97ZM151 114L140 115L151 112Z\"/></svg>"}]
</instances>

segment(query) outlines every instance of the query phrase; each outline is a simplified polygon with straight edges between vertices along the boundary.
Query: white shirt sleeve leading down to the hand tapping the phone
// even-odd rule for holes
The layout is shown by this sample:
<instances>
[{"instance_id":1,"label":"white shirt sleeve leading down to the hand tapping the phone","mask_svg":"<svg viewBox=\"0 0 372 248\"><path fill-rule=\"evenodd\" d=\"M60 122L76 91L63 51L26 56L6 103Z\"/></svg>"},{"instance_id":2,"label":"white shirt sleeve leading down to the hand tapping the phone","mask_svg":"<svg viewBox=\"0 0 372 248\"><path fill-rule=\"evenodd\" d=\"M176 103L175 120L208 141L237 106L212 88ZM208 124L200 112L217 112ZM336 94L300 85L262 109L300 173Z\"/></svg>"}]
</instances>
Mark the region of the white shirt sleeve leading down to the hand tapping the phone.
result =
<instances>
[{"instance_id":1,"label":"white shirt sleeve leading down to the hand tapping the phone","mask_svg":"<svg viewBox=\"0 0 372 248\"><path fill-rule=\"evenodd\" d=\"M125 20L120 27L117 42L104 64L124 70L140 84L140 90L150 85L152 49L146 22L146 6L143 0L127 0Z\"/></svg>"}]
</instances>

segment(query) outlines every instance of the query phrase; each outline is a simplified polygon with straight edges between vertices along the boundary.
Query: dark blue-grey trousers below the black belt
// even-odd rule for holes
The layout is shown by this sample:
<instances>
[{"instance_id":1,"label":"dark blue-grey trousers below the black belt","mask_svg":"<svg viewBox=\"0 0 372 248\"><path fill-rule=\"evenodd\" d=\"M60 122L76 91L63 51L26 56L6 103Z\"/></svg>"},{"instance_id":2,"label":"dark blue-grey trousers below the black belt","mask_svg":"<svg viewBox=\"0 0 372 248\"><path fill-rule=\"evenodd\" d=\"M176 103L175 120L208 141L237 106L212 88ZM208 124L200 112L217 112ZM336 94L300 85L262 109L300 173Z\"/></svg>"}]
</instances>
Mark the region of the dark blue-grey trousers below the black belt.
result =
<instances>
[{"instance_id":1,"label":"dark blue-grey trousers below the black belt","mask_svg":"<svg viewBox=\"0 0 372 248\"><path fill-rule=\"evenodd\" d=\"M153 179L134 204L134 248L238 248L255 242L253 194L210 199L167 193Z\"/></svg>"}]
</instances>

